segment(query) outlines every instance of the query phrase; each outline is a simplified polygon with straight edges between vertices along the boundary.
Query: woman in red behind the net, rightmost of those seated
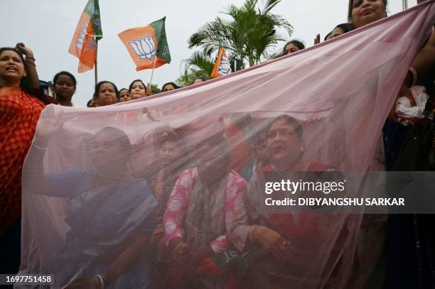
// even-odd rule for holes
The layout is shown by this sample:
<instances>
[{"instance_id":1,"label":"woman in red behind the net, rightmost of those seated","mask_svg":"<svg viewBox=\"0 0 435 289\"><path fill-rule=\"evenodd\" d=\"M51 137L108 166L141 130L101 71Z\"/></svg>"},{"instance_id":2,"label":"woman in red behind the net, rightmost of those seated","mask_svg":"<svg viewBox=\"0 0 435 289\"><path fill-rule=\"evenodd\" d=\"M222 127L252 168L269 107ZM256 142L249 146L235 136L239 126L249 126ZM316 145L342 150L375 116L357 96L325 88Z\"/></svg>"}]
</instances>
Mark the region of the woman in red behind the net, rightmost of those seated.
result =
<instances>
[{"instance_id":1,"label":"woman in red behind the net, rightmost of those seated","mask_svg":"<svg viewBox=\"0 0 435 289\"><path fill-rule=\"evenodd\" d=\"M259 168L249 181L246 214L240 214L239 225L230 234L232 244L244 253L242 282L249 288L346 288L348 276L342 270L350 261L344 257L346 242L349 231L355 231L347 216L262 212L269 178L282 178L282 173L289 178L291 171L332 170L323 163L304 161L304 148L304 133L296 119L281 115L268 126L269 165ZM239 271L235 270L236 276Z\"/></svg>"}]
</instances>

